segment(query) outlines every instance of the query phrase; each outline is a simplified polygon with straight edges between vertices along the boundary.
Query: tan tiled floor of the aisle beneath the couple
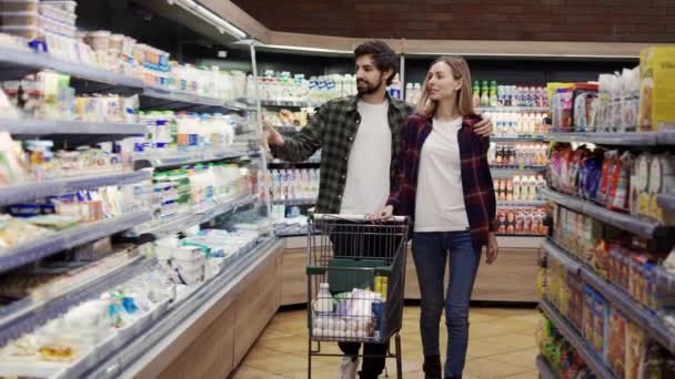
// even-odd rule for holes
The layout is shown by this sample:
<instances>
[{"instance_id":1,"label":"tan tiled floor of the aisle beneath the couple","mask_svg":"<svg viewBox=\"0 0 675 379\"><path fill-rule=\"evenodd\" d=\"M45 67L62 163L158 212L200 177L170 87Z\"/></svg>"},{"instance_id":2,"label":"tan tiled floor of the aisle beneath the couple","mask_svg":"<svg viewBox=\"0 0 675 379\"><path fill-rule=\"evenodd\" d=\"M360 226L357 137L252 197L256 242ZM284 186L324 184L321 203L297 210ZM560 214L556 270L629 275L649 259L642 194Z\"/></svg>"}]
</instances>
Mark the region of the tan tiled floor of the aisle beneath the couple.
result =
<instances>
[{"instance_id":1,"label":"tan tiled floor of the aisle beneath the couple","mask_svg":"<svg viewBox=\"0 0 675 379\"><path fill-rule=\"evenodd\" d=\"M420 308L406 307L403 316L402 377L424 378L419 331ZM534 309L472 308L464 378L538 378L534 366L537 355L534 332L538 320ZM443 321L441 330L441 346L444 347L446 338ZM306 311L281 311L260 336L233 378L306 378L308 348ZM321 348L322 351L340 352L335 344L322 344ZM312 378L336 378L339 359L314 357ZM386 367L390 378L395 378L395 361L387 360Z\"/></svg>"}]
</instances>

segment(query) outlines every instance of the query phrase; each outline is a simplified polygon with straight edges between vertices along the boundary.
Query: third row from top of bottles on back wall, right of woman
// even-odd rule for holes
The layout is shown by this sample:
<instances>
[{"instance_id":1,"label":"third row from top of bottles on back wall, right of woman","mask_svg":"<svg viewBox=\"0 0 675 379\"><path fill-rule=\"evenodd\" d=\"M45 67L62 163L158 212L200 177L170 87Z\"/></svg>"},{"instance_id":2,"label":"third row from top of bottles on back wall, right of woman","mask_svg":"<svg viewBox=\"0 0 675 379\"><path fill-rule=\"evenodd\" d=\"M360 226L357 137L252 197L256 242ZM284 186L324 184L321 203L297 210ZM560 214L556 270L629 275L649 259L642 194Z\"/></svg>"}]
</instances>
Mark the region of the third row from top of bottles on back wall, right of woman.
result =
<instances>
[{"instance_id":1,"label":"third row from top of bottles on back wall, right of woman","mask_svg":"<svg viewBox=\"0 0 675 379\"><path fill-rule=\"evenodd\" d=\"M548 145L544 143L491 143L487 160L491 165L543 166L548 162Z\"/></svg>"}]
</instances>

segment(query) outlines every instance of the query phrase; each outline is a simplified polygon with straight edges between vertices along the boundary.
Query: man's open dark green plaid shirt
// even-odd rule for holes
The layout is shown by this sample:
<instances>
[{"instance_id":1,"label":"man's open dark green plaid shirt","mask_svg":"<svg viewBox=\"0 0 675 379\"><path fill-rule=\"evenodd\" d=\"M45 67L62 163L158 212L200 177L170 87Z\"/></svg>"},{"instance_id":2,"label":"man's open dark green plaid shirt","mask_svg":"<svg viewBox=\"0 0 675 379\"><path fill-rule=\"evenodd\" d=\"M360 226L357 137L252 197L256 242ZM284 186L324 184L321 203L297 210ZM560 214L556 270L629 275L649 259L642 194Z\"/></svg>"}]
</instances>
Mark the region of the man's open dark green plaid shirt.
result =
<instances>
[{"instance_id":1,"label":"man's open dark green plaid shirt","mask_svg":"<svg viewBox=\"0 0 675 379\"><path fill-rule=\"evenodd\" d=\"M390 183L394 183L394 162L401 146L401 131L413 112L413 106L392 99L389 100L389 127L392 132L392 164ZM321 106L310 123L293 136L284 136L283 146L272 146L274 157L288 162L302 162L321 148L321 178L316 212L338 214L342 206L342 194L346 183L346 168L356 136L361 115L357 96L332 100ZM377 143L376 141L373 143ZM364 162L367 164L367 162Z\"/></svg>"}]
</instances>

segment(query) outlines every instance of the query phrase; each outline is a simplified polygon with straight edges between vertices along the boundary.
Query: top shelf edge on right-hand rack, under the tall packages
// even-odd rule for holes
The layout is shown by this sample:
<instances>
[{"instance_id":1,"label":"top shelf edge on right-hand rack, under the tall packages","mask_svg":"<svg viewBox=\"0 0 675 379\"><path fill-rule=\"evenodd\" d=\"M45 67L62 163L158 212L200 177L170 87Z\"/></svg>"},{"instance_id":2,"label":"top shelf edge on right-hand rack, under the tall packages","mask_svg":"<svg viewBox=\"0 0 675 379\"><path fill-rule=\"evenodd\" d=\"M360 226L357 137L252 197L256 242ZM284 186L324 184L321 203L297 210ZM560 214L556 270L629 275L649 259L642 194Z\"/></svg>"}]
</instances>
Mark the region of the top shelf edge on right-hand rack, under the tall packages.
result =
<instances>
[{"instance_id":1,"label":"top shelf edge on right-hand rack, under the tall packages","mask_svg":"<svg viewBox=\"0 0 675 379\"><path fill-rule=\"evenodd\" d=\"M675 144L675 132L558 132L546 134L544 139L552 142L587 142L597 145L657 146Z\"/></svg>"}]
</instances>

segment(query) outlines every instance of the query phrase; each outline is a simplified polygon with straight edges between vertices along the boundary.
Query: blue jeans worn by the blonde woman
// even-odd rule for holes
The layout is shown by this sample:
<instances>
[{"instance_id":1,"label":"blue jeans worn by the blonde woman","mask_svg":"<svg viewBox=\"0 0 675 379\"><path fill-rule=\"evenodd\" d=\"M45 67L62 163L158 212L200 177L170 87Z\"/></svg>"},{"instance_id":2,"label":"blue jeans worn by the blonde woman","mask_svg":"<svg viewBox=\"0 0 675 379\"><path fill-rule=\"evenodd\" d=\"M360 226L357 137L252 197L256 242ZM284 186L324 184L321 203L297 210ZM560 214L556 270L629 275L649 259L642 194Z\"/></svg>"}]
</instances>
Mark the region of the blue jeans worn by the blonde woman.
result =
<instances>
[{"instance_id":1,"label":"blue jeans worn by the blonde woman","mask_svg":"<svg viewBox=\"0 0 675 379\"><path fill-rule=\"evenodd\" d=\"M447 300L444 296L445 262L450 256ZM445 377L462 378L469 345L469 305L481 262L471 233L434 232L413 235L413 259L422 295L420 329L425 356L440 356L439 324L445 306L447 350Z\"/></svg>"}]
</instances>

